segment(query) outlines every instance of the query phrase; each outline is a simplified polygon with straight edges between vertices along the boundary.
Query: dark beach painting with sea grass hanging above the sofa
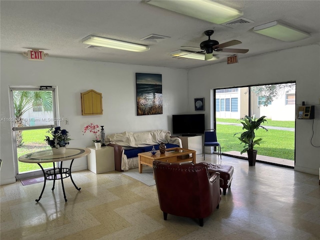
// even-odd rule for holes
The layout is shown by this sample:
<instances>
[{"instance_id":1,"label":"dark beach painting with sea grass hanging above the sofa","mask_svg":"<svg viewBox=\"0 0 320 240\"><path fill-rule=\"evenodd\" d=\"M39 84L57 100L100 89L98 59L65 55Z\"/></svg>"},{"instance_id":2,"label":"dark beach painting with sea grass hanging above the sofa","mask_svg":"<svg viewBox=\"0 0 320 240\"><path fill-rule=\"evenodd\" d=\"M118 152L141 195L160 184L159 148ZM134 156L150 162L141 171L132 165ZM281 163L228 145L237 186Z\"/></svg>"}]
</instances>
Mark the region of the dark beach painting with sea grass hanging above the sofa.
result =
<instances>
[{"instance_id":1,"label":"dark beach painting with sea grass hanging above the sofa","mask_svg":"<svg viewBox=\"0 0 320 240\"><path fill-rule=\"evenodd\" d=\"M135 73L136 114L162 114L162 75Z\"/></svg>"}]
</instances>

